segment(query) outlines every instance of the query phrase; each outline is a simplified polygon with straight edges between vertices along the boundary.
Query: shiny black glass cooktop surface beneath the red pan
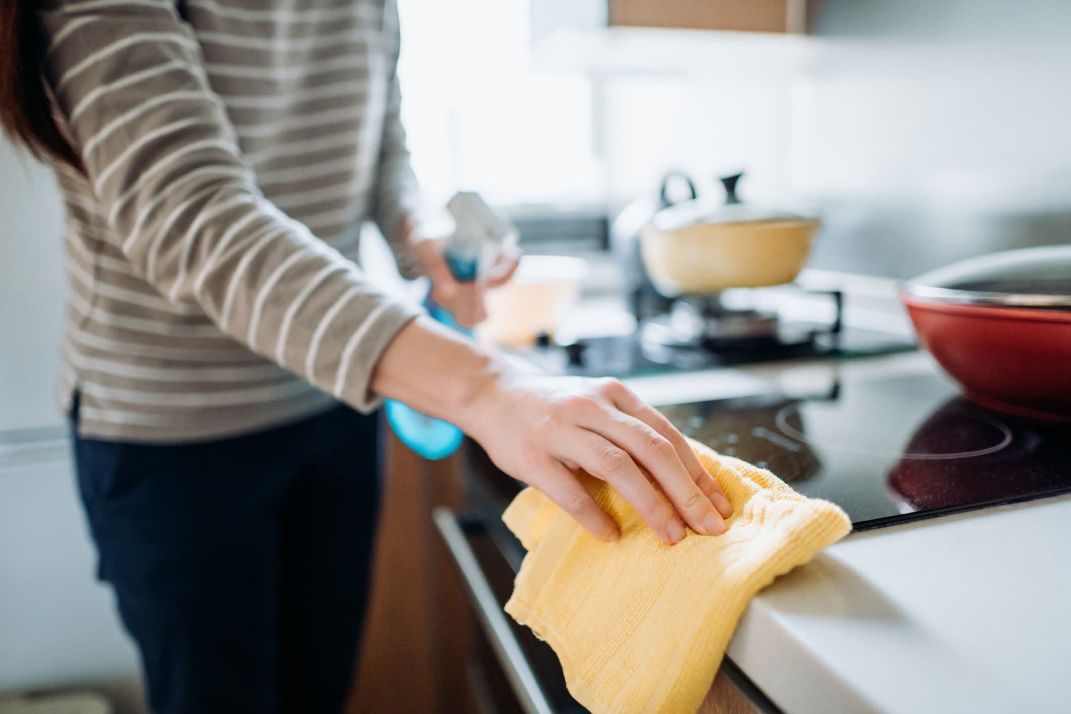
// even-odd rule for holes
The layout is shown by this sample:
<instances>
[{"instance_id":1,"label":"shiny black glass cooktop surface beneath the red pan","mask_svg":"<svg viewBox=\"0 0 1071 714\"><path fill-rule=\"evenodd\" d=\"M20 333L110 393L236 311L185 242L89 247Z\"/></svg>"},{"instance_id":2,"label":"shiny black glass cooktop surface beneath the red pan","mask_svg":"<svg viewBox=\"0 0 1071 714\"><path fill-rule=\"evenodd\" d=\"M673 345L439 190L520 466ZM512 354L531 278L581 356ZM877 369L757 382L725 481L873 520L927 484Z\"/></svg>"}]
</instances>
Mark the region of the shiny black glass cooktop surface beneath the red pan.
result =
<instances>
[{"instance_id":1,"label":"shiny black glass cooktop surface beneath the red pan","mask_svg":"<svg viewBox=\"0 0 1071 714\"><path fill-rule=\"evenodd\" d=\"M982 409L938 375L660 411L720 453L838 503L856 530L1071 491L1071 426Z\"/></svg>"}]
</instances>

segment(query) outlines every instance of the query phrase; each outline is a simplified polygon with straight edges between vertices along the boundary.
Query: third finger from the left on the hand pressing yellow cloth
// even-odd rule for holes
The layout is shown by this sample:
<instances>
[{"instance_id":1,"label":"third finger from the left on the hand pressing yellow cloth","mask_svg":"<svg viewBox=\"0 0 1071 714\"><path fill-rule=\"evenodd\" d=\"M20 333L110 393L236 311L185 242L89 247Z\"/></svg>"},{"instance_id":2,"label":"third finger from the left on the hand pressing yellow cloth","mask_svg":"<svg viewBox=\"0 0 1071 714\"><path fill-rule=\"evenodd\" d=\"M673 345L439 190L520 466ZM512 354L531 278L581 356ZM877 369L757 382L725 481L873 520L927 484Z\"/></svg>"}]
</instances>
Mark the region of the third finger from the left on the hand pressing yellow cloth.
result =
<instances>
[{"instance_id":1,"label":"third finger from the left on the hand pressing yellow cloth","mask_svg":"<svg viewBox=\"0 0 1071 714\"><path fill-rule=\"evenodd\" d=\"M580 417L579 425L624 449L635 462L647 469L677 513L696 533L724 533L725 520L684 468L669 440L638 419L613 406L609 408L614 411L603 412L598 419L591 419L594 415L591 410L588 419Z\"/></svg>"}]
</instances>

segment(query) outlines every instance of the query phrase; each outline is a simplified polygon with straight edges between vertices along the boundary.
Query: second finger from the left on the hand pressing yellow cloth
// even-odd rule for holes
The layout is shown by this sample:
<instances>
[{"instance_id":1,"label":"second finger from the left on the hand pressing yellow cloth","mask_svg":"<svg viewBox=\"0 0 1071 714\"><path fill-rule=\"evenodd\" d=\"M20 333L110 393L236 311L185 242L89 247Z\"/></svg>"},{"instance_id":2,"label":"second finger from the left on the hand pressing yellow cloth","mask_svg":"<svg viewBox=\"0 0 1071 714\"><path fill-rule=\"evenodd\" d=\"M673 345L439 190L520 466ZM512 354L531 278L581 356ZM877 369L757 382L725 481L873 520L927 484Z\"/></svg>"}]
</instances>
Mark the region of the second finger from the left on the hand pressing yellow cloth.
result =
<instances>
[{"instance_id":1,"label":"second finger from the left on the hand pressing yellow cloth","mask_svg":"<svg viewBox=\"0 0 1071 714\"><path fill-rule=\"evenodd\" d=\"M623 449L579 427L565 429L557 445L564 458L610 484L660 538L669 544L684 540L687 532L673 506Z\"/></svg>"}]
</instances>

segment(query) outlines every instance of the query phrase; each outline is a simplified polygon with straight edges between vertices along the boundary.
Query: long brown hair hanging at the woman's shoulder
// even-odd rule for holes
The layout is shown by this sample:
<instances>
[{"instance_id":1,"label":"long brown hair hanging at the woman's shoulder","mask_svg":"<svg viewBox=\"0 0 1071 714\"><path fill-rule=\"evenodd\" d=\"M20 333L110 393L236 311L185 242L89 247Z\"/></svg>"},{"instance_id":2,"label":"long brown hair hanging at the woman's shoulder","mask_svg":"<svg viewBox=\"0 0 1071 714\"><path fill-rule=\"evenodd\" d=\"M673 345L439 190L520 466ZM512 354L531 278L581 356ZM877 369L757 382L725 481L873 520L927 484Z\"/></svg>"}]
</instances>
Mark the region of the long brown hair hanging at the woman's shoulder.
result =
<instances>
[{"instance_id":1,"label":"long brown hair hanging at the woman's shoulder","mask_svg":"<svg viewBox=\"0 0 1071 714\"><path fill-rule=\"evenodd\" d=\"M34 0L0 0L0 128L41 159L80 169L52 113L42 66L47 42Z\"/></svg>"}]
</instances>

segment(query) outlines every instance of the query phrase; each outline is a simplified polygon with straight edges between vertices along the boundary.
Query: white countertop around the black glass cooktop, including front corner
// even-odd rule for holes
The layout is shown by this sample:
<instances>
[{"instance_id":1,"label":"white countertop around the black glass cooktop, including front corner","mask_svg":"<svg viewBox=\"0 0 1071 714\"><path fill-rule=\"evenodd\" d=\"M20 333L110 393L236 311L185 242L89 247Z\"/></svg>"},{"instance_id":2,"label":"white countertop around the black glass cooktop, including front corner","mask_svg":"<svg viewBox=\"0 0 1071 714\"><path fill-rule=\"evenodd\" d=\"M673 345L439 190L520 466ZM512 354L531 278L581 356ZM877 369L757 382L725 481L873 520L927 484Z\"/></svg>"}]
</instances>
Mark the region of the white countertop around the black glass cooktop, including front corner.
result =
<instances>
[{"instance_id":1,"label":"white countertop around the black glass cooktop, including front corner","mask_svg":"<svg viewBox=\"0 0 1071 714\"><path fill-rule=\"evenodd\" d=\"M925 368L915 353L628 381L669 402L685 382L694 400ZM1071 712L1069 531L1071 496L849 535L755 597L728 656L787 714Z\"/></svg>"}]
</instances>

